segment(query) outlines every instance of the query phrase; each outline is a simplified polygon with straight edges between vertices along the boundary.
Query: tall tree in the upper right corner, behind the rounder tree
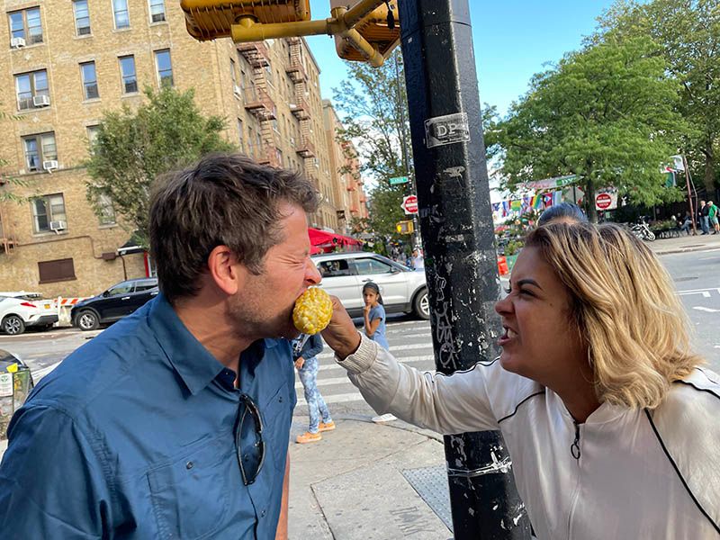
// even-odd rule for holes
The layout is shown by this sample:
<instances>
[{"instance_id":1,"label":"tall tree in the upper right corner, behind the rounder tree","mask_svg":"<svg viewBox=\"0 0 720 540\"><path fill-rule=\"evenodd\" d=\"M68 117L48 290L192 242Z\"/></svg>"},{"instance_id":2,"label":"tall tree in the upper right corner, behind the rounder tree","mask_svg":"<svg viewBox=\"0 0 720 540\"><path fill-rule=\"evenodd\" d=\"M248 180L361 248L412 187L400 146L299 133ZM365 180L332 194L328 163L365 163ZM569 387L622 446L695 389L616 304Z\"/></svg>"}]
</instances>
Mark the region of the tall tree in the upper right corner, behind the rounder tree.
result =
<instances>
[{"instance_id":1,"label":"tall tree in the upper right corner, behind the rounder tree","mask_svg":"<svg viewBox=\"0 0 720 540\"><path fill-rule=\"evenodd\" d=\"M682 145L691 169L713 193L720 178L720 8L717 0L619 1L592 40L650 36L655 54L680 82L680 114L695 129Z\"/></svg>"}]
</instances>

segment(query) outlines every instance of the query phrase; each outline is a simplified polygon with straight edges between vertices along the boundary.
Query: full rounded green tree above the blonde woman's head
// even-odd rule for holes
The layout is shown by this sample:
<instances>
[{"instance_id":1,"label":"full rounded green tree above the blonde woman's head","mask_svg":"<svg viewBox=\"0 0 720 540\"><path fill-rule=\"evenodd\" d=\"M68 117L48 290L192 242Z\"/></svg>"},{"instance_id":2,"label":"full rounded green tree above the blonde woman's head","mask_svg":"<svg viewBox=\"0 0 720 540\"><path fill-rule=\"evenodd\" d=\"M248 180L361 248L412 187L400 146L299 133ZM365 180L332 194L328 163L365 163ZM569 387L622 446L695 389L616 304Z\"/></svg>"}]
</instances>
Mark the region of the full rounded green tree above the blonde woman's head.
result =
<instances>
[{"instance_id":1,"label":"full rounded green tree above the blonde woman's head","mask_svg":"<svg viewBox=\"0 0 720 540\"><path fill-rule=\"evenodd\" d=\"M590 202L615 186L644 204L679 200L659 174L687 130L678 85L647 38L604 40L534 76L530 91L495 127L506 187L574 174Z\"/></svg>"}]
</instances>

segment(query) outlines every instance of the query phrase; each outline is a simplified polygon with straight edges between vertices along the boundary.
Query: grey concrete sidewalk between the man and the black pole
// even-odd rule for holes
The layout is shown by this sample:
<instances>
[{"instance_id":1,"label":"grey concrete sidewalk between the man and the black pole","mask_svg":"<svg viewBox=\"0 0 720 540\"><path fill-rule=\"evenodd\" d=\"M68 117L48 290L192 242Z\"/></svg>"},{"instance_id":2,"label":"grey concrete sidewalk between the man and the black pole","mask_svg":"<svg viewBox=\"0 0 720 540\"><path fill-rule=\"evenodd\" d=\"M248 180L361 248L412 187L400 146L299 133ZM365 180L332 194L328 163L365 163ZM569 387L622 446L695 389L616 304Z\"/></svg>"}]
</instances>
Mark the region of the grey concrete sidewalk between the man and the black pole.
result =
<instances>
[{"instance_id":1,"label":"grey concrete sidewalk between the man and the black pole","mask_svg":"<svg viewBox=\"0 0 720 540\"><path fill-rule=\"evenodd\" d=\"M400 420L335 422L318 443L291 443L290 540L453 536L433 510L450 521L442 437ZM292 441L306 428L307 417L293 417Z\"/></svg>"}]
</instances>

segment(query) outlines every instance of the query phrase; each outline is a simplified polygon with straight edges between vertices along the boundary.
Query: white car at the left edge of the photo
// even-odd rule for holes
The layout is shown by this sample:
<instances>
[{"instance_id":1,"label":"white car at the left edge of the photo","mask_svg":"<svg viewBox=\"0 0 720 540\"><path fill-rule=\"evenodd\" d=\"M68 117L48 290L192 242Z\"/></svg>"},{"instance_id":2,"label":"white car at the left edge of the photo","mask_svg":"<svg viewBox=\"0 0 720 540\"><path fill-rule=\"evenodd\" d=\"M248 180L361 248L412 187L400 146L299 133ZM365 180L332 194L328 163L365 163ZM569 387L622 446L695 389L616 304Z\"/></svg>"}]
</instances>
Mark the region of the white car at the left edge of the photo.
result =
<instances>
[{"instance_id":1,"label":"white car at the left edge of the photo","mask_svg":"<svg viewBox=\"0 0 720 540\"><path fill-rule=\"evenodd\" d=\"M40 293L25 291L0 293L0 329L10 336L28 328L50 329L58 322L58 313L53 311L51 301L41 298Z\"/></svg>"}]
</instances>

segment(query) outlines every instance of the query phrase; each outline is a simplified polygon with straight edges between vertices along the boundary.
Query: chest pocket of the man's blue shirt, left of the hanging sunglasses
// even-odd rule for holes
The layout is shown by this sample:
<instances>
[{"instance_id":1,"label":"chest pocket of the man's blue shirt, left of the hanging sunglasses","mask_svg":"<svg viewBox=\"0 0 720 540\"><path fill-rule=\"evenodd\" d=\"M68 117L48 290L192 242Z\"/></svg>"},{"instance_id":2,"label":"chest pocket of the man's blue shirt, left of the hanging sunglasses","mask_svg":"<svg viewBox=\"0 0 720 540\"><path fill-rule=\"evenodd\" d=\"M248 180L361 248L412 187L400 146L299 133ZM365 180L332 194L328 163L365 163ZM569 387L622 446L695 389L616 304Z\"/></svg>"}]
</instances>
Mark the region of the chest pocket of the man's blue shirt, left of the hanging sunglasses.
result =
<instances>
[{"instance_id":1,"label":"chest pocket of the man's blue shirt, left of the hanging sunglasses","mask_svg":"<svg viewBox=\"0 0 720 540\"><path fill-rule=\"evenodd\" d=\"M193 445L171 464L148 472L160 538L208 538L228 513L229 465L237 463L225 439Z\"/></svg>"}]
</instances>

